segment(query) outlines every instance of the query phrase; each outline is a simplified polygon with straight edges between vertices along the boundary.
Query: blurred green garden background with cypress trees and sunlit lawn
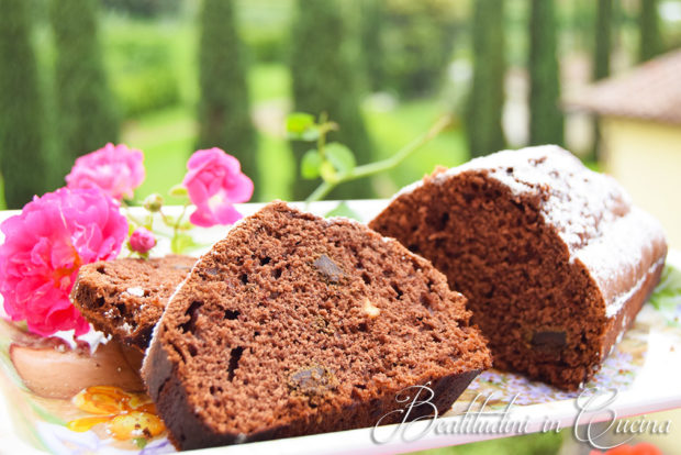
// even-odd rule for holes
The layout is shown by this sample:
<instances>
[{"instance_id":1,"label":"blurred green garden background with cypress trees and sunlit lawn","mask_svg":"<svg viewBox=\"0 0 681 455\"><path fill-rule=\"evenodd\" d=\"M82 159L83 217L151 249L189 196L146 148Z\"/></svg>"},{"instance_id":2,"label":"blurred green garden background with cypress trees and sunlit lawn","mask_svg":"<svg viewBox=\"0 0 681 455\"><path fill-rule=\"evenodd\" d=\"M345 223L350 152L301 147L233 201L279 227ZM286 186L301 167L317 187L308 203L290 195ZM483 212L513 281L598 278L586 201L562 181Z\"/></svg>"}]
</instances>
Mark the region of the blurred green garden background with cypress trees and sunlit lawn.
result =
<instances>
[{"instance_id":1,"label":"blurred green garden background with cypress trees and sunlit lawn","mask_svg":"<svg viewBox=\"0 0 681 455\"><path fill-rule=\"evenodd\" d=\"M0 0L3 207L64 185L74 159L146 155L137 199L219 146L256 200L302 199L288 112L327 112L359 163L453 124L388 175L333 197L389 197L435 165L527 144L595 163L571 89L681 45L679 0ZM170 201L172 201L170 199Z\"/></svg>"}]
</instances>

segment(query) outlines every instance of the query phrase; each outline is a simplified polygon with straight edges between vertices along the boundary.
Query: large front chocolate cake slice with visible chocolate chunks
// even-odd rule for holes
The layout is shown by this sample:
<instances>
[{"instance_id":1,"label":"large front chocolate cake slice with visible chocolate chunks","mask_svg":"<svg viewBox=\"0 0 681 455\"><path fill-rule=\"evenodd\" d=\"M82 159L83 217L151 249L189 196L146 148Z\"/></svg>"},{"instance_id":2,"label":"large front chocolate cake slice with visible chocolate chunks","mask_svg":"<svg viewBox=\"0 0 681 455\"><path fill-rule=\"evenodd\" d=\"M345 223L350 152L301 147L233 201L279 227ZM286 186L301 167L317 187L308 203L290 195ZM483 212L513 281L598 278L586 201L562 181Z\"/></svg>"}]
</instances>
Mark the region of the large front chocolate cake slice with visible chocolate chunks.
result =
<instances>
[{"instance_id":1,"label":"large front chocolate cake slice with visible chocolate chunks","mask_svg":"<svg viewBox=\"0 0 681 455\"><path fill-rule=\"evenodd\" d=\"M406 387L443 413L490 366L469 317L397 241L272 202L199 259L142 375L181 450L393 423Z\"/></svg>"}]
</instances>

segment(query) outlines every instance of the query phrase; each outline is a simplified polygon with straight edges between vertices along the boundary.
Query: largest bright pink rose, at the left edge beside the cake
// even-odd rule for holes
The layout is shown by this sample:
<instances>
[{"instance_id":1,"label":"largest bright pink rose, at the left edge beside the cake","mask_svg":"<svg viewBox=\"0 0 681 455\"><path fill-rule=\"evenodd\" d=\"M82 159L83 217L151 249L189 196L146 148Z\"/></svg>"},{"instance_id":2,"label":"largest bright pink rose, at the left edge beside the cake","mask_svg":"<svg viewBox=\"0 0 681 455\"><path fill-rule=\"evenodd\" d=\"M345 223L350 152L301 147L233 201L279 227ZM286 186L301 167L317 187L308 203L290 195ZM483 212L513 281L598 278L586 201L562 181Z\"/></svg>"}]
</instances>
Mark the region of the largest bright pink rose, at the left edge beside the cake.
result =
<instances>
[{"instance_id":1,"label":"largest bright pink rose, at the left edge beside the cake","mask_svg":"<svg viewBox=\"0 0 681 455\"><path fill-rule=\"evenodd\" d=\"M97 189L60 188L0 224L0 293L13 321L47 336L89 325L69 300L78 268L113 259L127 235L115 201Z\"/></svg>"}]
</instances>

